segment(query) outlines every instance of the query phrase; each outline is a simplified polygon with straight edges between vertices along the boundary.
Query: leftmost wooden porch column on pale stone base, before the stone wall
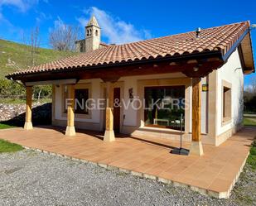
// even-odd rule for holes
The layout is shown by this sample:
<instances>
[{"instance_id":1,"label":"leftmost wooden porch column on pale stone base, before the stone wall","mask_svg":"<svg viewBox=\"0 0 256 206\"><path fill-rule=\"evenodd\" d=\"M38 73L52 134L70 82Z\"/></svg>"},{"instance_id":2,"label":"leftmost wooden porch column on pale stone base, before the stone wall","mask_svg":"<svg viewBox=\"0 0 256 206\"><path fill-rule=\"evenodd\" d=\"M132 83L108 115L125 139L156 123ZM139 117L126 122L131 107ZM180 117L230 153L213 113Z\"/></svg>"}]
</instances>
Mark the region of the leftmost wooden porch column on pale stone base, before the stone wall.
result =
<instances>
[{"instance_id":1,"label":"leftmost wooden porch column on pale stone base, before the stone wall","mask_svg":"<svg viewBox=\"0 0 256 206\"><path fill-rule=\"evenodd\" d=\"M27 90L26 122L24 125L24 129L31 130L31 129L33 129L33 125L32 125L32 93L33 93L33 89L31 86L27 86L26 90Z\"/></svg>"}]
</instances>

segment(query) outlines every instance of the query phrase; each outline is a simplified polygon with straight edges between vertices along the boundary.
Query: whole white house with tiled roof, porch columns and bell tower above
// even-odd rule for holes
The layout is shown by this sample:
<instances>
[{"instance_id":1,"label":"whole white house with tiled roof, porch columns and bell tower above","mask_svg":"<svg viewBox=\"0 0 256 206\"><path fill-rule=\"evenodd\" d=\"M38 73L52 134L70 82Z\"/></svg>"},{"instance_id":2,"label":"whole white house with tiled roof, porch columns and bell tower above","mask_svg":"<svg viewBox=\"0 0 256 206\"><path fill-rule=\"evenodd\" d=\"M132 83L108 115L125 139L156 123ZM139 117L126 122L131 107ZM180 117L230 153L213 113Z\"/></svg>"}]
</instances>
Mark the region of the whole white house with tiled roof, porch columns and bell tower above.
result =
<instances>
[{"instance_id":1,"label":"whole white house with tiled roof, porch columns and bell tower above","mask_svg":"<svg viewBox=\"0 0 256 206\"><path fill-rule=\"evenodd\" d=\"M219 146L242 127L244 75L254 72L250 23L239 22L118 46L100 46L93 17L85 51L7 75L27 87L24 128L32 129L32 86L52 84L52 124ZM89 48L89 49L87 49ZM84 50L84 49L83 49ZM65 137L65 136L64 136Z\"/></svg>"}]
</instances>

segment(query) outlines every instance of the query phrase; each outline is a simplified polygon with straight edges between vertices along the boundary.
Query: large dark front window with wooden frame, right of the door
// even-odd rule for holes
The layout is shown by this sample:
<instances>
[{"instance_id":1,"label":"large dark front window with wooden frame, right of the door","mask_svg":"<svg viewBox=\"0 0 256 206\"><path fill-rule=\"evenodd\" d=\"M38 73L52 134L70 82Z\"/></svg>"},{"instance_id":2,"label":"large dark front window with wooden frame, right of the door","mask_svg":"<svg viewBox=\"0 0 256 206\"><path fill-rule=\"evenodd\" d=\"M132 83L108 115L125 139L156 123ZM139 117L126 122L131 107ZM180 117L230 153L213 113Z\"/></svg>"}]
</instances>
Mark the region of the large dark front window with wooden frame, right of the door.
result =
<instances>
[{"instance_id":1,"label":"large dark front window with wooden frame, right of the door","mask_svg":"<svg viewBox=\"0 0 256 206\"><path fill-rule=\"evenodd\" d=\"M145 126L180 130L182 123L184 130L185 86L146 87L144 92Z\"/></svg>"}]
</instances>

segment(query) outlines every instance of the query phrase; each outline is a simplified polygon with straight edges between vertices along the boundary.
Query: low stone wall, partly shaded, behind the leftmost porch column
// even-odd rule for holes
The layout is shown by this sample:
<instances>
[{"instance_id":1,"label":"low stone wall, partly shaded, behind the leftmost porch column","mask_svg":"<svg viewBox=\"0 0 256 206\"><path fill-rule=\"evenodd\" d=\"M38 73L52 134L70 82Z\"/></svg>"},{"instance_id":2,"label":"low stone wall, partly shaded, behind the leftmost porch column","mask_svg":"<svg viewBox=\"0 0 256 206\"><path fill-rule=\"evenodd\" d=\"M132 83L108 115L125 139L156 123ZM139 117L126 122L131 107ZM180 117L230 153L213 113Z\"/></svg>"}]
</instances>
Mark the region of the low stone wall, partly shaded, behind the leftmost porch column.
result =
<instances>
[{"instance_id":1,"label":"low stone wall, partly shaded, behind the leftmost porch column","mask_svg":"<svg viewBox=\"0 0 256 206\"><path fill-rule=\"evenodd\" d=\"M0 122L12 122L22 125L26 116L26 104L0 103ZM32 122L37 124L51 123L51 103L33 103Z\"/></svg>"}]
</instances>

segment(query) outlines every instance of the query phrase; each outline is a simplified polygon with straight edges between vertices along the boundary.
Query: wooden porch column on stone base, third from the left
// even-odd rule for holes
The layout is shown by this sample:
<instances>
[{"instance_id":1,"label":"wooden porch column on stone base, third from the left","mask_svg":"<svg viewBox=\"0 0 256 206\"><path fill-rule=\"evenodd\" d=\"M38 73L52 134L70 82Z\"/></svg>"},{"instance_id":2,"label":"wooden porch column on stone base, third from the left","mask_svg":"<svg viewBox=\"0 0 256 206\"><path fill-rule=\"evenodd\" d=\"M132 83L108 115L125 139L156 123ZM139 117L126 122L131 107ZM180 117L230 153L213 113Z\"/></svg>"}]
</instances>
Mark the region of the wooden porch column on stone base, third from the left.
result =
<instances>
[{"instance_id":1,"label":"wooden porch column on stone base, third from the left","mask_svg":"<svg viewBox=\"0 0 256 206\"><path fill-rule=\"evenodd\" d=\"M114 137L114 83L106 82L106 128L104 141L115 141Z\"/></svg>"}]
</instances>

